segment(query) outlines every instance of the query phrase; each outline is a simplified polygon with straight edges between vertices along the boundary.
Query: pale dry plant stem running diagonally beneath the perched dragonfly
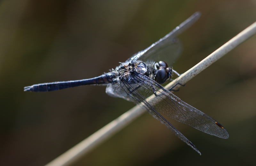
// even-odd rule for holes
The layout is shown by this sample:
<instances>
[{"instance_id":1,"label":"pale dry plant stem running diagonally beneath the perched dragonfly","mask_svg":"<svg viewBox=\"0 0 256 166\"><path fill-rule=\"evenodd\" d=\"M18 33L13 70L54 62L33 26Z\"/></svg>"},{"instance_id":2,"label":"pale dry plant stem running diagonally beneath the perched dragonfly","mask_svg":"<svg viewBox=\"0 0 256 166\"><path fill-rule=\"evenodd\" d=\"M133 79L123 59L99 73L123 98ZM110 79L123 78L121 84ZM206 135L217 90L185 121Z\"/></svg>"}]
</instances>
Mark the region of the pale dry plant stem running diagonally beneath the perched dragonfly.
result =
<instances>
[{"instance_id":1,"label":"pale dry plant stem running diagonally beneath the perched dragonfly","mask_svg":"<svg viewBox=\"0 0 256 166\"><path fill-rule=\"evenodd\" d=\"M178 78L173 80L171 83L165 86L166 89L170 89L175 86L172 90L177 90L180 84L187 83L190 79L195 77L201 71L210 66L213 62L220 59L223 55L227 54L229 51L248 40L256 33L256 22L246 28L244 31L240 32L234 38L229 40L219 49L214 51L212 54L207 56L203 61L199 62L193 68L189 69L187 72L180 75ZM177 84L180 83L180 84ZM144 111L140 106L135 106L131 110L125 112L119 118L113 120L108 125L104 126L84 141L78 143L73 148L69 149L64 154L60 155L52 162L48 163L46 166L68 166L76 162L81 156L88 153L91 149L98 146L103 141L109 139L116 132L121 130L123 127L127 126L132 120L139 117Z\"/></svg>"}]
</instances>

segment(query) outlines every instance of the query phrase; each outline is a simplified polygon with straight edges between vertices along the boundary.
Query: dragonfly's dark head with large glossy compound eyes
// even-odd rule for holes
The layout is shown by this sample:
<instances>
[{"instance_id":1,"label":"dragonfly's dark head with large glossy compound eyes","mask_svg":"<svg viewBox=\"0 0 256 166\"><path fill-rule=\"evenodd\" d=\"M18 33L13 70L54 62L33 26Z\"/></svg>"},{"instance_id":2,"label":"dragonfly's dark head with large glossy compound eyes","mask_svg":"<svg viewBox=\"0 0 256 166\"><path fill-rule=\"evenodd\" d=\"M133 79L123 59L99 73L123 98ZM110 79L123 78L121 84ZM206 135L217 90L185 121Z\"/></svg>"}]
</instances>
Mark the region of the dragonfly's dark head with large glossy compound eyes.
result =
<instances>
[{"instance_id":1,"label":"dragonfly's dark head with large glossy compound eyes","mask_svg":"<svg viewBox=\"0 0 256 166\"><path fill-rule=\"evenodd\" d=\"M172 77L172 67L168 67L165 61L159 61L156 63L156 76L155 81L159 84L165 83Z\"/></svg>"}]
</instances>

